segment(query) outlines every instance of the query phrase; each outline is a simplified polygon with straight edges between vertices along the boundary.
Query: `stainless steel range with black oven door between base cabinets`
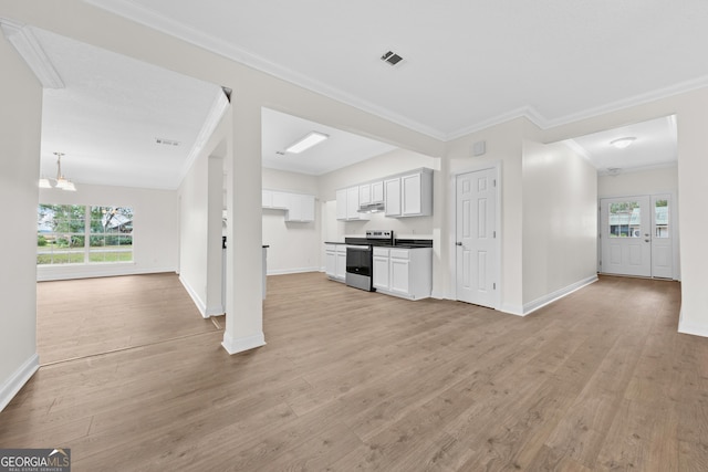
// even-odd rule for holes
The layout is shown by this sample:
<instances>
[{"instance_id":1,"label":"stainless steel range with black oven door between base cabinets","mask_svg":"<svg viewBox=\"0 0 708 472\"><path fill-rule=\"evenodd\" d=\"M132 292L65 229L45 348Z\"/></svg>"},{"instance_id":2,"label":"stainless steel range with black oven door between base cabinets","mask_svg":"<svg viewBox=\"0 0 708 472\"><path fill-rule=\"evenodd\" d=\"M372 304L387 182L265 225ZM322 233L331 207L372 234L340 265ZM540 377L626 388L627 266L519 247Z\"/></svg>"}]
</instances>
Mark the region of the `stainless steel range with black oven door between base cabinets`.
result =
<instances>
[{"instance_id":1,"label":"stainless steel range with black oven door between base cabinets","mask_svg":"<svg viewBox=\"0 0 708 472\"><path fill-rule=\"evenodd\" d=\"M366 238L345 238L346 243L346 274L347 285L374 292L372 285L373 247L391 245L394 243L394 232L391 230L366 230Z\"/></svg>"}]
</instances>

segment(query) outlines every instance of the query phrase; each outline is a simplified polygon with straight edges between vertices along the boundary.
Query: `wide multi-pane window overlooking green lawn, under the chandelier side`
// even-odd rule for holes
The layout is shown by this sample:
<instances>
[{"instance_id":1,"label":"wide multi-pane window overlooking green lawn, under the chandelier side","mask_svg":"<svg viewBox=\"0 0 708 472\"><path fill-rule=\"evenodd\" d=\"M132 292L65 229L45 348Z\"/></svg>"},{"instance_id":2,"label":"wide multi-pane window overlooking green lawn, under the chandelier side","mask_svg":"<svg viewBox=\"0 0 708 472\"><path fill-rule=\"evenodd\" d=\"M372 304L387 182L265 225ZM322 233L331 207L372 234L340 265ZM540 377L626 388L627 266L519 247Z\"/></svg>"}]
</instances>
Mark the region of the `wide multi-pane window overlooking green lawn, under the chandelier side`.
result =
<instances>
[{"instance_id":1,"label":"wide multi-pane window overlooking green lawn, under the chandelier side","mask_svg":"<svg viewBox=\"0 0 708 472\"><path fill-rule=\"evenodd\" d=\"M133 261L133 209L40 204L37 264Z\"/></svg>"}]
</instances>

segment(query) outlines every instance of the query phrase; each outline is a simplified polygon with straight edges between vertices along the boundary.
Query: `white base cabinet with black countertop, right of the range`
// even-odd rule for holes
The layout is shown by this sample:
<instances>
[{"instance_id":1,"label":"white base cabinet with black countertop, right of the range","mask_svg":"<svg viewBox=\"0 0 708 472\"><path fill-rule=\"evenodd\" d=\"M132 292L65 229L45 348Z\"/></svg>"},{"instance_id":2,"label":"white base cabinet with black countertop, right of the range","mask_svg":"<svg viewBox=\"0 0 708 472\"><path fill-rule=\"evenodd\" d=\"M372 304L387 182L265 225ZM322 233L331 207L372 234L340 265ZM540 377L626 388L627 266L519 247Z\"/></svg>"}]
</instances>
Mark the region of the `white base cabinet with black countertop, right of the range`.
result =
<instances>
[{"instance_id":1,"label":"white base cabinet with black countertop, right of the range","mask_svg":"<svg viewBox=\"0 0 708 472\"><path fill-rule=\"evenodd\" d=\"M408 300L433 291L433 249L374 248L373 284L378 292Z\"/></svg>"}]
</instances>

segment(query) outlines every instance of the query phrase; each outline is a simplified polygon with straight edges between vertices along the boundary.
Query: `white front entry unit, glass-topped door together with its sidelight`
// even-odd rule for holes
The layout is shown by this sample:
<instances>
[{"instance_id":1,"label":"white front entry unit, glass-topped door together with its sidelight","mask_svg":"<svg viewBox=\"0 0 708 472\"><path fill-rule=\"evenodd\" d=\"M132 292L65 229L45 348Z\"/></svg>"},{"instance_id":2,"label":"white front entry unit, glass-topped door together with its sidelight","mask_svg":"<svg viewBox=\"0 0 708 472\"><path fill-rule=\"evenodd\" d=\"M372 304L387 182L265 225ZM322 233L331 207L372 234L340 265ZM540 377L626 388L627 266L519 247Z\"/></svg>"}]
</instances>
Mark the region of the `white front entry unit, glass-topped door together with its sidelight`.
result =
<instances>
[{"instance_id":1,"label":"white front entry unit, glass-topped door together with its sidelight","mask_svg":"<svg viewBox=\"0 0 708 472\"><path fill-rule=\"evenodd\" d=\"M605 198L600 202L601 272L673 276L669 196Z\"/></svg>"}]
</instances>

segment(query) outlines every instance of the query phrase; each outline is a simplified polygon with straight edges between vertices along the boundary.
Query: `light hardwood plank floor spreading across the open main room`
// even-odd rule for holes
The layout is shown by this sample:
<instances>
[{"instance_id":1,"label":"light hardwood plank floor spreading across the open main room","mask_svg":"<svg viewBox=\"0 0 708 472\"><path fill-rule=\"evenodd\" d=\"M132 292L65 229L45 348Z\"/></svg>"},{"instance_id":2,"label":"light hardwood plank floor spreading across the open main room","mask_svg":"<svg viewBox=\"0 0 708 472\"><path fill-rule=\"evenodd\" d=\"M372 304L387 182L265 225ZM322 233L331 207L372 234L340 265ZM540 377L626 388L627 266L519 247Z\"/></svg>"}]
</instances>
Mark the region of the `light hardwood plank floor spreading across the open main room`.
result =
<instances>
[{"instance_id":1,"label":"light hardwood plank floor spreading across the open main room","mask_svg":"<svg viewBox=\"0 0 708 472\"><path fill-rule=\"evenodd\" d=\"M184 310L94 282L114 317ZM268 283L266 346L229 356L196 313L171 340L140 323L138 347L42 367L0 447L71 448L74 471L708 470L708 339L676 332L678 283L603 276L524 318Z\"/></svg>"}]
</instances>

